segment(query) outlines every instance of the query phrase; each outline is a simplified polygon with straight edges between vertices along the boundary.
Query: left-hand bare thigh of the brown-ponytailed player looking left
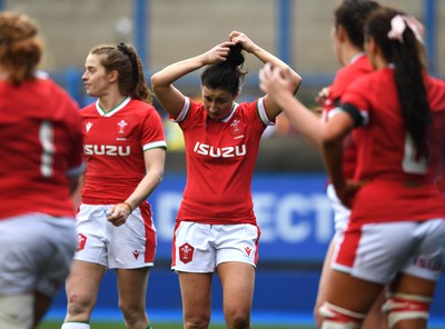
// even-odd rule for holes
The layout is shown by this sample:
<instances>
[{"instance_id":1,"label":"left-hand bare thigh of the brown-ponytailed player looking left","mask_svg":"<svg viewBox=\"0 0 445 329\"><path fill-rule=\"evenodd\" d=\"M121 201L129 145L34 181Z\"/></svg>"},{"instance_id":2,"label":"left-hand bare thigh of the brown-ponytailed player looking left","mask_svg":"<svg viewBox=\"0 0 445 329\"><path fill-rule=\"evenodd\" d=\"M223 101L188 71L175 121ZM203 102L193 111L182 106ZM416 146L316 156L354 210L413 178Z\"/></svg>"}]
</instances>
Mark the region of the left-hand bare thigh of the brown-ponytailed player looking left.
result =
<instances>
[{"instance_id":1,"label":"left-hand bare thigh of the brown-ponytailed player looking left","mask_svg":"<svg viewBox=\"0 0 445 329\"><path fill-rule=\"evenodd\" d=\"M90 310L96 305L100 281L106 268L101 265L73 260L66 289L69 303L78 303Z\"/></svg>"}]
</instances>

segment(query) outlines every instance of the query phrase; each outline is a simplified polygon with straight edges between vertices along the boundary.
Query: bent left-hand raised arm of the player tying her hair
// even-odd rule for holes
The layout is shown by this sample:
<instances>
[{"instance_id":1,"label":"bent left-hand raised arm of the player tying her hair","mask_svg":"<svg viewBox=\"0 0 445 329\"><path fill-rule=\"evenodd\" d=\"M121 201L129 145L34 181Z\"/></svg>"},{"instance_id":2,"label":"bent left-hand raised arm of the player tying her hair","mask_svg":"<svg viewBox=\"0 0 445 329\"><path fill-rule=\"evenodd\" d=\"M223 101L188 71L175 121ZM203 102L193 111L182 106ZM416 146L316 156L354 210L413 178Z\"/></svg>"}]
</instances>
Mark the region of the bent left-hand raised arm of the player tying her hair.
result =
<instances>
[{"instance_id":1,"label":"bent left-hand raised arm of the player tying her hair","mask_svg":"<svg viewBox=\"0 0 445 329\"><path fill-rule=\"evenodd\" d=\"M229 46L233 42L222 42L199 56L172 63L151 77L151 88L162 108L177 118L182 109L184 94L172 83L184 76L196 71L204 66L226 60Z\"/></svg>"}]
</instances>

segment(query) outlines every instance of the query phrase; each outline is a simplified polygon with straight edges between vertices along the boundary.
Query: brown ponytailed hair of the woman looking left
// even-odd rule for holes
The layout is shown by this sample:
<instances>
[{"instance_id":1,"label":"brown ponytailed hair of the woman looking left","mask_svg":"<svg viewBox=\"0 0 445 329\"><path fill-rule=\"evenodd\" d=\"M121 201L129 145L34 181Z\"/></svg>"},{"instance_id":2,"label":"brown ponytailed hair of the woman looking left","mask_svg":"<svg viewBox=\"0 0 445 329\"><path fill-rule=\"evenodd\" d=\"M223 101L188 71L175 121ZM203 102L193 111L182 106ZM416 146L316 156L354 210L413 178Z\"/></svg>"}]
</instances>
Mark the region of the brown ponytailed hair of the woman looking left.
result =
<instances>
[{"instance_id":1,"label":"brown ponytailed hair of the woman looking left","mask_svg":"<svg viewBox=\"0 0 445 329\"><path fill-rule=\"evenodd\" d=\"M118 72L119 90L134 99L151 103L151 91L147 86L142 63L131 46L97 46L90 53L103 54L100 63L107 72Z\"/></svg>"}]
</instances>

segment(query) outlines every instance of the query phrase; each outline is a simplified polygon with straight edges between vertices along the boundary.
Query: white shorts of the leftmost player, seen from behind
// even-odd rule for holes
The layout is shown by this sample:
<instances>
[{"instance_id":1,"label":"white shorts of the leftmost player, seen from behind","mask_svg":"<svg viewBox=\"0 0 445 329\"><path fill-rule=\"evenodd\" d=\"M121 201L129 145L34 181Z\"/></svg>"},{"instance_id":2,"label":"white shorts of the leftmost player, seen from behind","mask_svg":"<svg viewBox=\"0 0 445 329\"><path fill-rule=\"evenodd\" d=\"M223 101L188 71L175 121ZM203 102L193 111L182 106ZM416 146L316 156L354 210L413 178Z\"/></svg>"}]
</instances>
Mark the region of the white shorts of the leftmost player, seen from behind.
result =
<instances>
[{"instance_id":1,"label":"white shorts of the leftmost player, seen from behind","mask_svg":"<svg viewBox=\"0 0 445 329\"><path fill-rule=\"evenodd\" d=\"M70 217L27 213L0 220L0 295L36 289L53 298L69 273L76 249Z\"/></svg>"}]
</instances>

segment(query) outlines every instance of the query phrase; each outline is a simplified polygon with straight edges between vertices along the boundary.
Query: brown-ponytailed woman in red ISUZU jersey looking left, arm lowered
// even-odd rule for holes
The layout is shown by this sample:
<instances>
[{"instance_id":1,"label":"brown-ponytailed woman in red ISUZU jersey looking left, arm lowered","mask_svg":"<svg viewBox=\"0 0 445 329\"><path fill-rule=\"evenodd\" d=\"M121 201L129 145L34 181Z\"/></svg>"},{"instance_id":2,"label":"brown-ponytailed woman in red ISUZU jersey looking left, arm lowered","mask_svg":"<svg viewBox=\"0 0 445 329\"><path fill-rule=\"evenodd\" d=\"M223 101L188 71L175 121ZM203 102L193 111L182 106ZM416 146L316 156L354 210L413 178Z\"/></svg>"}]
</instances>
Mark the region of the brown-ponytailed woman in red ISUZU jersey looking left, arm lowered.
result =
<instances>
[{"instance_id":1,"label":"brown-ponytailed woman in red ISUZU jersey looking left, arm lowered","mask_svg":"<svg viewBox=\"0 0 445 329\"><path fill-rule=\"evenodd\" d=\"M107 269L116 269L126 328L150 328L146 292L156 231L147 198L164 176L167 144L161 119L132 47L95 47L82 80L87 93L98 100L80 112L87 172L62 328L90 328Z\"/></svg>"}]
</instances>

